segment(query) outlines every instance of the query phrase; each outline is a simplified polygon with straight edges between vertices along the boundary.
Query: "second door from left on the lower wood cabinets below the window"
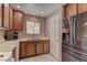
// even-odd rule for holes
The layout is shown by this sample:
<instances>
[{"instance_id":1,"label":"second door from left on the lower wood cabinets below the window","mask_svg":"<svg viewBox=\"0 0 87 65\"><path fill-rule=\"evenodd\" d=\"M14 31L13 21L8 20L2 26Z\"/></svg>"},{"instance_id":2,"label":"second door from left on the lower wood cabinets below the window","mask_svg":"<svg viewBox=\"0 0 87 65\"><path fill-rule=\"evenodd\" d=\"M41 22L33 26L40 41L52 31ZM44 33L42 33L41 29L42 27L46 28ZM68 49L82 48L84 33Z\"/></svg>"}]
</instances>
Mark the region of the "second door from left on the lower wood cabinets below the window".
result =
<instances>
[{"instance_id":1,"label":"second door from left on the lower wood cabinets below the window","mask_svg":"<svg viewBox=\"0 0 87 65\"><path fill-rule=\"evenodd\" d=\"M26 44L26 56L35 55L35 44L33 41L28 42Z\"/></svg>"}]
</instances>

